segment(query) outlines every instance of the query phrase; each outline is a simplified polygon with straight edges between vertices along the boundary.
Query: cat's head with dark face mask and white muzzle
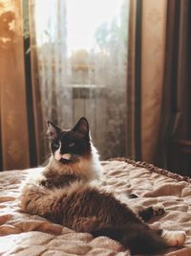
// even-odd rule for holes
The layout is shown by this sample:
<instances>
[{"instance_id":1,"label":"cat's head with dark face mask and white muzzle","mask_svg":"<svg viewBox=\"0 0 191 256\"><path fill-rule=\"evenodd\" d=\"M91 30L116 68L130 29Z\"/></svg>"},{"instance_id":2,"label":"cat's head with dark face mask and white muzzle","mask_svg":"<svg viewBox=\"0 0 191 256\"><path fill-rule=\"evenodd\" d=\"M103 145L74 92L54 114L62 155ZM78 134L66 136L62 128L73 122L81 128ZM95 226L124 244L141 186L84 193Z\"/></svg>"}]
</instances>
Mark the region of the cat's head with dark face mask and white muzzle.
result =
<instances>
[{"instance_id":1,"label":"cat's head with dark face mask and white muzzle","mask_svg":"<svg viewBox=\"0 0 191 256\"><path fill-rule=\"evenodd\" d=\"M89 124L85 117L81 117L70 130L62 130L50 121L47 125L50 148L55 160L69 164L91 155Z\"/></svg>"}]
</instances>

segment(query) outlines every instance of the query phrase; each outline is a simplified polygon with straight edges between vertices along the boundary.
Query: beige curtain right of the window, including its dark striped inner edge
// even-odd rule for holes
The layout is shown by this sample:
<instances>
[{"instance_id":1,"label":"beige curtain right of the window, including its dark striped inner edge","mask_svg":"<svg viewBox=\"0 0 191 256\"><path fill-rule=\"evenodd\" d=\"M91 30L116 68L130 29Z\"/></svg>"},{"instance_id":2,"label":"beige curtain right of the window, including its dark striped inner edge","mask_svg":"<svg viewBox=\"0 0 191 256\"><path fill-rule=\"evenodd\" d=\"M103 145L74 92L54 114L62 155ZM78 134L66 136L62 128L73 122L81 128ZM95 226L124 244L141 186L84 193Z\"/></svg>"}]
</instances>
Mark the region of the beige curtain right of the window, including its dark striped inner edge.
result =
<instances>
[{"instance_id":1,"label":"beige curtain right of the window, including its dark striped inner edge","mask_svg":"<svg viewBox=\"0 0 191 256\"><path fill-rule=\"evenodd\" d=\"M154 162L161 111L167 1L130 2L127 151Z\"/></svg>"}]
</instances>

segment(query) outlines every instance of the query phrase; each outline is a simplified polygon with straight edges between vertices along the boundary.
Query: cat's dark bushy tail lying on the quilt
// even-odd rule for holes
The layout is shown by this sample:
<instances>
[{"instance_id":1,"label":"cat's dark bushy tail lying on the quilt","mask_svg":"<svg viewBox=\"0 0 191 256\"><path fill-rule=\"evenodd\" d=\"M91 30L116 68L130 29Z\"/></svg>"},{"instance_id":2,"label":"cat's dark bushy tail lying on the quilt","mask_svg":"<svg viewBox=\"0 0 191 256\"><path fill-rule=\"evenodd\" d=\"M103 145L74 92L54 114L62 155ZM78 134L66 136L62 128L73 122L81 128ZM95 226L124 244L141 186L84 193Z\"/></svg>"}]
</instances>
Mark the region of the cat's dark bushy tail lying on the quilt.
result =
<instances>
[{"instance_id":1,"label":"cat's dark bushy tail lying on the quilt","mask_svg":"<svg viewBox=\"0 0 191 256\"><path fill-rule=\"evenodd\" d=\"M116 240L125 248L128 248L131 255L155 255L168 247L158 234L158 231L151 230L138 223L128 223L128 225L123 227L97 229L92 232L92 235L94 237L106 236Z\"/></svg>"}]
</instances>

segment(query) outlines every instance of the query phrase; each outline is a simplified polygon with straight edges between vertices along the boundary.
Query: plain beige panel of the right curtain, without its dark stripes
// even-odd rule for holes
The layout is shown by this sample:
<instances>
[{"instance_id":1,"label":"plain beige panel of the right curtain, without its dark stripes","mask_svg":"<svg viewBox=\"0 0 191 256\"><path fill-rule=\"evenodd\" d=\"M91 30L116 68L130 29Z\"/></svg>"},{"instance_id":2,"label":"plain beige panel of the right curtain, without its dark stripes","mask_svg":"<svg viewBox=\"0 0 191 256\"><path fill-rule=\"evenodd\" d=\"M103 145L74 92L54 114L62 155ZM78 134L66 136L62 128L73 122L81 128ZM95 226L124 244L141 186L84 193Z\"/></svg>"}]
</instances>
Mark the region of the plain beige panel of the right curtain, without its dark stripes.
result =
<instances>
[{"instance_id":1,"label":"plain beige panel of the right curtain, without its dark stripes","mask_svg":"<svg viewBox=\"0 0 191 256\"><path fill-rule=\"evenodd\" d=\"M143 0L141 18L141 158L154 163L159 139L166 43L166 0Z\"/></svg>"}]
</instances>

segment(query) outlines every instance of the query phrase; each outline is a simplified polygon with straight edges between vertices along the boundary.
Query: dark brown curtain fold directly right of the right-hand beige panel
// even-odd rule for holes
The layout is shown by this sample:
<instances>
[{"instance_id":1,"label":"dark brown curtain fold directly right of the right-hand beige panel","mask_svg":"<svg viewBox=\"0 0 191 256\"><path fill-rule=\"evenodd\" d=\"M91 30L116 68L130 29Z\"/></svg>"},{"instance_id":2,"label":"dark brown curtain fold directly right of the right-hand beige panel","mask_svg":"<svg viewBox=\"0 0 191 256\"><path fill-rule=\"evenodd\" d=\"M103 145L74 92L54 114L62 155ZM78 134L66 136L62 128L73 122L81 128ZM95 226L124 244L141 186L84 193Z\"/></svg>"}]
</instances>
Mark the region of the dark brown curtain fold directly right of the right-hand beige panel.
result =
<instances>
[{"instance_id":1,"label":"dark brown curtain fold directly right of the right-hand beige panel","mask_svg":"<svg viewBox=\"0 0 191 256\"><path fill-rule=\"evenodd\" d=\"M179 31L180 1L168 1L166 22L165 66L162 86L162 102L159 123L158 155L159 166L167 168L170 139L175 125L180 119L178 107L178 62L179 62Z\"/></svg>"}]
</instances>

